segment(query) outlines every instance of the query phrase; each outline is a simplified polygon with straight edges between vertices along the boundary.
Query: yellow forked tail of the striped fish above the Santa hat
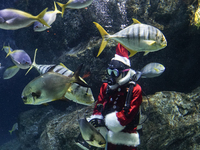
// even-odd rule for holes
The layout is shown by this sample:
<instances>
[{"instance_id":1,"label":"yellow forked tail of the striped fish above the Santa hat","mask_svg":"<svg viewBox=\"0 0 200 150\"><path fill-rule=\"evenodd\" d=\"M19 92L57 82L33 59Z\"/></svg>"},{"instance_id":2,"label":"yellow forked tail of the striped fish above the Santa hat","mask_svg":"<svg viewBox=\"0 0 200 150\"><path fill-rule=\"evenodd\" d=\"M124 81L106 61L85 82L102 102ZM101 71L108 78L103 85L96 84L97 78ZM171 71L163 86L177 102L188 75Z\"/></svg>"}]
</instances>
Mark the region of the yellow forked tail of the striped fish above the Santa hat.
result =
<instances>
[{"instance_id":1,"label":"yellow forked tail of the striped fish above the Santa hat","mask_svg":"<svg viewBox=\"0 0 200 150\"><path fill-rule=\"evenodd\" d=\"M97 54L97 57L101 54L101 52L104 50L104 48L106 47L108 41L105 39L106 36L109 36L109 34L104 30L104 28L98 24L97 22L93 22L97 29L99 30L101 37L102 37L102 42L101 42L101 46L99 48L99 52Z\"/></svg>"}]
</instances>

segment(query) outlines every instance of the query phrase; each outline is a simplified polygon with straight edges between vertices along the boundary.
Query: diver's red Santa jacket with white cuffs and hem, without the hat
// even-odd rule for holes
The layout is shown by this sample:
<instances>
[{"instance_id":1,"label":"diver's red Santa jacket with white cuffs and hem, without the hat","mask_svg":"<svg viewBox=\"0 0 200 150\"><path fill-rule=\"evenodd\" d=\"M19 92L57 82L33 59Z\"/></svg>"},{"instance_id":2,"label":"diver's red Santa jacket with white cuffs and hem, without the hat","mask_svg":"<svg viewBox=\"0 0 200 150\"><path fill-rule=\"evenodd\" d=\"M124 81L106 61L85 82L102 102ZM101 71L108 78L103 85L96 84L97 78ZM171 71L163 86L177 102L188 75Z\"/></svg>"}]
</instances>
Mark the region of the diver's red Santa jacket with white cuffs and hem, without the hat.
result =
<instances>
[{"instance_id":1,"label":"diver's red Santa jacket with white cuffs and hem, without the hat","mask_svg":"<svg viewBox=\"0 0 200 150\"><path fill-rule=\"evenodd\" d=\"M100 88L98 101L95 105L92 118L104 118L105 125L109 129L107 133L108 150L117 150L121 145L121 150L136 150L140 144L139 134L133 125L134 118L138 115L139 106L142 103L142 90L140 85L136 84L132 91L132 99L128 114L125 115L124 104L126 101L127 87L120 86L107 98L107 83L103 83ZM98 110L98 105L103 105L102 112Z\"/></svg>"}]
</instances>

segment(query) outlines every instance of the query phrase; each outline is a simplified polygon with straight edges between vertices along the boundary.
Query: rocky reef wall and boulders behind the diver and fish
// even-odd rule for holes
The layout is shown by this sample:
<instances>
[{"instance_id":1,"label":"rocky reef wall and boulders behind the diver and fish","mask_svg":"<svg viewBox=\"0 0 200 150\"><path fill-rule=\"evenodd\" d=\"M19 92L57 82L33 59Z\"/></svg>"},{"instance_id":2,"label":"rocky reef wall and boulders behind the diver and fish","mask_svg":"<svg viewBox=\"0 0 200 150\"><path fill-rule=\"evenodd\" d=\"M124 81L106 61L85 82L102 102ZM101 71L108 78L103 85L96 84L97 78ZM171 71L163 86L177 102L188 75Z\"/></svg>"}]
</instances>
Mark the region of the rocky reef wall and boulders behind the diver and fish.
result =
<instances>
[{"instance_id":1,"label":"rocky reef wall and boulders behind the diver and fish","mask_svg":"<svg viewBox=\"0 0 200 150\"><path fill-rule=\"evenodd\" d=\"M64 0L59 2L66 3ZM46 7L54 10L53 1L15 1L15 8L33 15ZM101 24L110 34L132 24L132 18L159 28L166 36L168 46L147 56L138 53L130 58L131 66L136 70L150 62L159 62L166 68L160 77L139 80L143 91L148 94L148 99L143 97L148 120L143 124L138 149L198 150L200 31L194 24L198 7L197 0L94 0L85 9L67 9L63 18L57 15L52 27L46 31L34 32L32 27L13 31L14 39L10 45L13 49L26 50L30 56L38 48L38 64L62 62L75 71L83 63L83 72L91 72L86 81L96 98L117 43L110 41L97 58L101 37L93 21ZM89 116L92 108L71 105L67 110L60 111L47 106L24 112L19 115L18 139L0 149L79 149L74 142L79 134L75 110L81 114L79 117L83 117L83 114ZM17 143L14 148L9 147L14 143Z\"/></svg>"}]
</instances>

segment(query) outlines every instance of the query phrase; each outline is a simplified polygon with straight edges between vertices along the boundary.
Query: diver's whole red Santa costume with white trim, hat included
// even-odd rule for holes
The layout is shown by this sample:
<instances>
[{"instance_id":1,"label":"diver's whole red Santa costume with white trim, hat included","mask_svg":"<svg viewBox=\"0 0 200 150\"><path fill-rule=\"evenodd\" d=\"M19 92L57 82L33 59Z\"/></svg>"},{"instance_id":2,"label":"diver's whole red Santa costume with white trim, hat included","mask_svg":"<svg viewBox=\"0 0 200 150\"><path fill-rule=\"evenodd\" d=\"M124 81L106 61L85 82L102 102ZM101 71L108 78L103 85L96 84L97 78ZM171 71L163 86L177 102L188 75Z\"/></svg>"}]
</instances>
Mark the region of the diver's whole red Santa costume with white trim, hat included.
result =
<instances>
[{"instance_id":1,"label":"diver's whole red Santa costume with white trim, hat included","mask_svg":"<svg viewBox=\"0 0 200 150\"><path fill-rule=\"evenodd\" d=\"M111 59L112 61L119 61L125 64L127 68L131 67L128 51L121 44L117 45L116 54ZM136 84L133 88L128 113L126 114L124 110L128 91L127 83L132 76L129 73L117 84L112 87L109 86L112 91L109 95L106 94L108 83L103 83L93 115L90 117L90 119L104 119L108 129L108 131L106 130L108 150L136 150L136 146L140 144L139 134L136 131L137 125L135 124L139 121L139 106L142 103L140 85ZM101 106L101 110L99 106ZM105 137L105 134L102 133L102 135Z\"/></svg>"}]
</instances>

